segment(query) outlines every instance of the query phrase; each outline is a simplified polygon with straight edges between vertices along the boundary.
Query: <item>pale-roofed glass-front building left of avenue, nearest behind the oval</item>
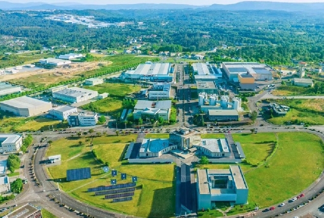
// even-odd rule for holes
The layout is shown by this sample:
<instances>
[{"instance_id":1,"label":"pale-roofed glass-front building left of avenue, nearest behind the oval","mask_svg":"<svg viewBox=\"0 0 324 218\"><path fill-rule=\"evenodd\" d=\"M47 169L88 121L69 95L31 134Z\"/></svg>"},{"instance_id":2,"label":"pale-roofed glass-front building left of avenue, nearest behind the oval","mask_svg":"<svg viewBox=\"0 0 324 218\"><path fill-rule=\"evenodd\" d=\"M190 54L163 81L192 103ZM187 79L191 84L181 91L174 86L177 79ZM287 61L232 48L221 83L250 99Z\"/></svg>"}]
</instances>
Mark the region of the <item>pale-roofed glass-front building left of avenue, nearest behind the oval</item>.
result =
<instances>
[{"instance_id":1,"label":"pale-roofed glass-front building left of avenue, nearest behind the oval","mask_svg":"<svg viewBox=\"0 0 324 218\"><path fill-rule=\"evenodd\" d=\"M162 117L164 120L170 119L171 114L171 100L165 101L145 101L139 100L134 107L134 119L158 119Z\"/></svg>"}]
</instances>

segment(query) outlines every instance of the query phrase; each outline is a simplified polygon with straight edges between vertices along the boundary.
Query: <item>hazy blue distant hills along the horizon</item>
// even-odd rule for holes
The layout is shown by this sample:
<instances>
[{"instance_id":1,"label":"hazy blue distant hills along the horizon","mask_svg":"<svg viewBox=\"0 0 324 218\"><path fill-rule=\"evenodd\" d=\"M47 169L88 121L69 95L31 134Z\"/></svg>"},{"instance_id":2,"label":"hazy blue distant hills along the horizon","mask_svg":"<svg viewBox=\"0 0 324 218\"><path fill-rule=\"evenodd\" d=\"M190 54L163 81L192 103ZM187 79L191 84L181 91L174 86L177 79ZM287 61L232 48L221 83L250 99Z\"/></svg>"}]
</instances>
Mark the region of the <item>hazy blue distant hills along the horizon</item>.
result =
<instances>
[{"instance_id":1,"label":"hazy blue distant hills along the horizon","mask_svg":"<svg viewBox=\"0 0 324 218\"><path fill-rule=\"evenodd\" d=\"M200 9L200 10L277 10L277 11L303 11L314 12L323 11L324 3L279 3L279 2L239 2L230 5L214 4L210 6L194 6L181 4L119 4L119 5L83 5L78 3L55 3L47 4L43 2L32 3L10 3L0 1L0 10L85 10L85 9Z\"/></svg>"}]
</instances>

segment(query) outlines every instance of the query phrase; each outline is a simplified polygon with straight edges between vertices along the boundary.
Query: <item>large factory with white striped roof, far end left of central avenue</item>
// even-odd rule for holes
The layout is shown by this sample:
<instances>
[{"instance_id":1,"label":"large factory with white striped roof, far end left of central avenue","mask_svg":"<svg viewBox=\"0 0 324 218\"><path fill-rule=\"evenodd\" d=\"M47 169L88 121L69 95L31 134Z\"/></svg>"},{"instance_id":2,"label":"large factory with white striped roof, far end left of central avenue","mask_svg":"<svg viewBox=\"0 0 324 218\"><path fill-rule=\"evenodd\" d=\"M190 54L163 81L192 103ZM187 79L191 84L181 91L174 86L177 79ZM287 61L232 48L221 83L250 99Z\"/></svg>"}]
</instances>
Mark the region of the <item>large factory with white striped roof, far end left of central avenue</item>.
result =
<instances>
[{"instance_id":1,"label":"large factory with white striped roof, far end left of central avenue","mask_svg":"<svg viewBox=\"0 0 324 218\"><path fill-rule=\"evenodd\" d=\"M121 78L123 80L144 80L151 82L172 82L173 67L170 63L145 63L140 64L134 70L123 72Z\"/></svg>"}]
</instances>

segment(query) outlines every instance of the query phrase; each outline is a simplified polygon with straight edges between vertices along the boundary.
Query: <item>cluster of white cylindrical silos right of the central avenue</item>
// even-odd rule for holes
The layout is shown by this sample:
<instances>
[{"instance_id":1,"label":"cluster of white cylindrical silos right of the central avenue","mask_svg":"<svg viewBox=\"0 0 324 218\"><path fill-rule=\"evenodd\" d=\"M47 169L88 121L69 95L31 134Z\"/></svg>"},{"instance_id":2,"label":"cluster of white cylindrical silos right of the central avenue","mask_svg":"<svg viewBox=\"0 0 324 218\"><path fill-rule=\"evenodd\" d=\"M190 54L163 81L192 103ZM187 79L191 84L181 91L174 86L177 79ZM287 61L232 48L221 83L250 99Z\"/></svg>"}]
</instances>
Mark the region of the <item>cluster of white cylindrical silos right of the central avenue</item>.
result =
<instances>
[{"instance_id":1,"label":"cluster of white cylindrical silos right of the central avenue","mask_svg":"<svg viewBox=\"0 0 324 218\"><path fill-rule=\"evenodd\" d=\"M198 95L198 105L203 112L207 112L207 110L242 110L241 109L241 98L234 97L232 98L232 102L230 102L229 95L222 95L219 100L219 95L210 94L208 95L206 92L201 92Z\"/></svg>"}]
</instances>

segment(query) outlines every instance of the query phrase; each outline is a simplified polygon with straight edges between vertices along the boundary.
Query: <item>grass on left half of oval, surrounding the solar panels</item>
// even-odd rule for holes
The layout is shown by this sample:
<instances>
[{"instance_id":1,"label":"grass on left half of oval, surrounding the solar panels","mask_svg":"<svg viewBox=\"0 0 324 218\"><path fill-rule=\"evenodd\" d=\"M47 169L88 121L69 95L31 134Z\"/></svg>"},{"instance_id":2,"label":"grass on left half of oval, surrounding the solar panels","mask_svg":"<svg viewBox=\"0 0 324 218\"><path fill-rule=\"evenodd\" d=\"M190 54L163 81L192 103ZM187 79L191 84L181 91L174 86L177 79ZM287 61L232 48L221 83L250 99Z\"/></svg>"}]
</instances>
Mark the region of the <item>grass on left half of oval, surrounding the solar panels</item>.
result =
<instances>
[{"instance_id":1,"label":"grass on left half of oval, surrounding the solar panels","mask_svg":"<svg viewBox=\"0 0 324 218\"><path fill-rule=\"evenodd\" d=\"M137 135L101 136L94 137L90 147L87 144L79 146L78 141L85 138L63 138L51 144L47 156L61 154L62 164L48 168L51 177L58 181L61 188L80 201L117 212L124 212L143 217L172 217L175 211L175 186L173 164L127 164L122 158L130 142L136 140ZM64 152L68 148L69 152ZM104 196L94 196L93 192L86 192L88 188L110 185L111 172L104 173L103 166L91 150L98 154L98 158L109 162L111 169L118 171L117 183L131 182L131 176L138 176L137 188L132 201L112 203ZM92 178L87 180L66 182L66 169L91 167ZM127 179L122 181L120 173L126 173ZM61 179L61 180L60 180Z\"/></svg>"}]
</instances>

